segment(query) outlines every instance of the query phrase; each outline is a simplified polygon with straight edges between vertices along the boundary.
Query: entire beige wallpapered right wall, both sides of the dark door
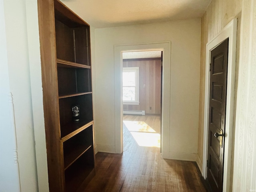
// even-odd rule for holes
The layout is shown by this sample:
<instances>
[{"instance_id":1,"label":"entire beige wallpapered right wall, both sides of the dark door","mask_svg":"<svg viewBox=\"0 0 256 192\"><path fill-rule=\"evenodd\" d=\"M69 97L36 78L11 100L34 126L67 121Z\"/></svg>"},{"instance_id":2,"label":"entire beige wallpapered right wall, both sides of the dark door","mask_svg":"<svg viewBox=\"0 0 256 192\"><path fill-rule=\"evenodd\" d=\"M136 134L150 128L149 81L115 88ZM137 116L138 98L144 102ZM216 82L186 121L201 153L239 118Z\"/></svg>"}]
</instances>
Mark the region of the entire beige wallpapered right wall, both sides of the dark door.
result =
<instances>
[{"instance_id":1,"label":"entire beige wallpapered right wall, both sides of the dark door","mask_svg":"<svg viewBox=\"0 0 256 192\"><path fill-rule=\"evenodd\" d=\"M256 191L256 1L212 0L202 17L198 155L203 156L206 43L238 18L231 192Z\"/></svg>"}]
</instances>

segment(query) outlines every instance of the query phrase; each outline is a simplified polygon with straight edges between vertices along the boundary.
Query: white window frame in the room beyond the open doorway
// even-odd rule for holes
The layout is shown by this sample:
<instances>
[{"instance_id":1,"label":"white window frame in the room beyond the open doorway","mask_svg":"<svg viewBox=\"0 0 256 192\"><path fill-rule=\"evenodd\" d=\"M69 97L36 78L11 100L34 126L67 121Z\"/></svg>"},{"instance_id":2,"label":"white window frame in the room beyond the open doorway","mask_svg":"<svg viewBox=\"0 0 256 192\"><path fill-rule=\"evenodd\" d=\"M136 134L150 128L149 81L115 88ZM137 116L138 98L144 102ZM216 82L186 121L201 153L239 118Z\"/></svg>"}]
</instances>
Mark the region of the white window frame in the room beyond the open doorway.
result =
<instances>
[{"instance_id":1,"label":"white window frame in the room beyond the open doorway","mask_svg":"<svg viewBox=\"0 0 256 192\"><path fill-rule=\"evenodd\" d=\"M124 105L139 105L140 104L140 84L139 84L139 67L123 67L123 72L135 72L135 101L123 100ZM122 86L123 87L123 86Z\"/></svg>"}]
</instances>

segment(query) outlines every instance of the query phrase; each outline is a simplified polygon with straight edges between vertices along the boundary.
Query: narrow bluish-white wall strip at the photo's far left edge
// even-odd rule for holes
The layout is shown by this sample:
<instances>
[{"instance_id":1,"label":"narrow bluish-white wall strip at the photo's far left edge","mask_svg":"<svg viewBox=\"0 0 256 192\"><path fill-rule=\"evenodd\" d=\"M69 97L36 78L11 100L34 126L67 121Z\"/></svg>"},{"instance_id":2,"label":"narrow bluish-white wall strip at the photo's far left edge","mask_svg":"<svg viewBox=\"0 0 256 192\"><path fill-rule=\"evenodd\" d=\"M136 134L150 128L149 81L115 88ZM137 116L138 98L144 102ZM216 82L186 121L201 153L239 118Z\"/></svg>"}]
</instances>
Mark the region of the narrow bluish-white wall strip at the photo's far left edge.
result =
<instances>
[{"instance_id":1,"label":"narrow bluish-white wall strip at the photo's far left edge","mask_svg":"<svg viewBox=\"0 0 256 192\"><path fill-rule=\"evenodd\" d=\"M0 0L0 191L20 191L16 132L6 47L4 2Z\"/></svg>"}]
</instances>

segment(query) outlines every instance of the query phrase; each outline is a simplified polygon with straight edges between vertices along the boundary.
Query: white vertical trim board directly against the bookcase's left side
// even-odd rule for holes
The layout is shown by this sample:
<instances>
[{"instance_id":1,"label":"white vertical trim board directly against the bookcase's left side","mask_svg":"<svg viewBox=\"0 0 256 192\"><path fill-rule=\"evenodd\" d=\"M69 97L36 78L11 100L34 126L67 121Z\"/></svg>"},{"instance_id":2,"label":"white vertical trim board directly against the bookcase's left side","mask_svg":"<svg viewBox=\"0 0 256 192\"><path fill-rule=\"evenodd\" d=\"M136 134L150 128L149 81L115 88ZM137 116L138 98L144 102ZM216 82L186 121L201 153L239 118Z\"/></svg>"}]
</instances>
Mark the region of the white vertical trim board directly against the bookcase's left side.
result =
<instances>
[{"instance_id":1,"label":"white vertical trim board directly against the bookcase's left side","mask_svg":"<svg viewBox=\"0 0 256 192\"><path fill-rule=\"evenodd\" d=\"M28 36L28 59L30 67L30 85L33 110L32 112L36 150L38 190L42 192L48 192L48 166L46 152L46 136L44 128L44 108L37 0L26 0L26 23Z\"/></svg>"}]
</instances>

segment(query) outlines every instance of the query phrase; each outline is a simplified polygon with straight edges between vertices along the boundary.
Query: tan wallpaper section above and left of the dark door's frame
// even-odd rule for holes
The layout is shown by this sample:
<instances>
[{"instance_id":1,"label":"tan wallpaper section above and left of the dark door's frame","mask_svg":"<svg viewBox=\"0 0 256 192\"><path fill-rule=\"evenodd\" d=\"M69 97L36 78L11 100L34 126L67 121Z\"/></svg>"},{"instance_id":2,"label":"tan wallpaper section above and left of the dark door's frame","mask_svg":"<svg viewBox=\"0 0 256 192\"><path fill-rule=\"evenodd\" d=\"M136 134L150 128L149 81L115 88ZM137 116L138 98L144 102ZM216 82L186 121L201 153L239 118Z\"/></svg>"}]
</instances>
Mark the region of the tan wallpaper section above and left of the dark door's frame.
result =
<instances>
[{"instance_id":1,"label":"tan wallpaper section above and left of the dark door's frame","mask_svg":"<svg viewBox=\"0 0 256 192\"><path fill-rule=\"evenodd\" d=\"M200 68L200 103L199 103L199 130L198 130L198 156L203 158L204 142L204 87L205 87L205 65L206 44L216 36L222 28L233 18L238 18L237 48L240 39L241 0L212 0L204 16L201 19L201 68ZM239 53L237 53L237 60ZM238 66L238 64L236 64Z\"/></svg>"}]
</instances>

